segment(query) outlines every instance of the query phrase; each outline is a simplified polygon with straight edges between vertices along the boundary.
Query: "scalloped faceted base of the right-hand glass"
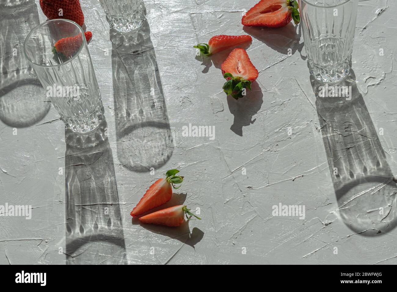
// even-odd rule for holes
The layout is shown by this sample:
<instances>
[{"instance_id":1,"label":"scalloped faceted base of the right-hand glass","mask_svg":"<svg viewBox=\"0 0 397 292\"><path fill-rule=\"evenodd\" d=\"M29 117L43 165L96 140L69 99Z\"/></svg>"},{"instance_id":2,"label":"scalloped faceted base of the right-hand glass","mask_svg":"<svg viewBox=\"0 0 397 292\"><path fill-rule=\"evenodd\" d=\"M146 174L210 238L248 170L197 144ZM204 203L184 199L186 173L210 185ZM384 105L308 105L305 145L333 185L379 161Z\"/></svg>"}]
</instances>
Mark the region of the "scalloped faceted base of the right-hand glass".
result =
<instances>
[{"instance_id":1,"label":"scalloped faceted base of the right-hand glass","mask_svg":"<svg viewBox=\"0 0 397 292\"><path fill-rule=\"evenodd\" d=\"M322 67L315 65L310 59L308 60L310 74L318 81L323 83L335 83L345 78L350 71L349 62L345 61L338 66Z\"/></svg>"}]
</instances>

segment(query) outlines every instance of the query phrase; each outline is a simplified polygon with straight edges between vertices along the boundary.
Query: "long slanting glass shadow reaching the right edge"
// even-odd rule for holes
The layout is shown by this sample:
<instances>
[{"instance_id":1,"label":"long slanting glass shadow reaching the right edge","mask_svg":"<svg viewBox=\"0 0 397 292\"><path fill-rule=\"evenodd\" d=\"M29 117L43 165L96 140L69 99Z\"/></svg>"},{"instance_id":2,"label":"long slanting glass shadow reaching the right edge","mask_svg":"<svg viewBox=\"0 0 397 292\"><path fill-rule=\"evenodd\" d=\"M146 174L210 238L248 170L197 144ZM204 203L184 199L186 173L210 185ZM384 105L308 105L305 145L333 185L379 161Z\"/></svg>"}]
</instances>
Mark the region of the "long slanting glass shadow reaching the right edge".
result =
<instances>
[{"instance_id":1,"label":"long slanting glass shadow reaching the right edge","mask_svg":"<svg viewBox=\"0 0 397 292\"><path fill-rule=\"evenodd\" d=\"M355 73L350 69L344 80L331 84L350 87L351 100L320 97L321 86L325 84L312 75L310 82L316 95L320 129L343 222L365 236L393 230L397 223L397 186L377 130L357 89Z\"/></svg>"}]
</instances>

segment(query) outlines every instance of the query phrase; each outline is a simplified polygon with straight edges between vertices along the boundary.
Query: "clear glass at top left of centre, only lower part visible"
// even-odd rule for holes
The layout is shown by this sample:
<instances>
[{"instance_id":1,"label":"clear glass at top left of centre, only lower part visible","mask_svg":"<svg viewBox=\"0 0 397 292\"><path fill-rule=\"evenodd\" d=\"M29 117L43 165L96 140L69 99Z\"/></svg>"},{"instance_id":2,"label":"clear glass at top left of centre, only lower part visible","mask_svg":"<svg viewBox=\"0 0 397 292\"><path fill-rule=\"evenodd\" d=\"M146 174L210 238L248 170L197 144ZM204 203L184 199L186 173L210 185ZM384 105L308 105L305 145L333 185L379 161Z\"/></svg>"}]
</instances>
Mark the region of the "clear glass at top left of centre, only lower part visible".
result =
<instances>
[{"instance_id":1,"label":"clear glass at top left of centre, only lower part visible","mask_svg":"<svg viewBox=\"0 0 397 292\"><path fill-rule=\"evenodd\" d=\"M99 0L111 28L127 33L141 27L145 20L142 0Z\"/></svg>"}]
</instances>

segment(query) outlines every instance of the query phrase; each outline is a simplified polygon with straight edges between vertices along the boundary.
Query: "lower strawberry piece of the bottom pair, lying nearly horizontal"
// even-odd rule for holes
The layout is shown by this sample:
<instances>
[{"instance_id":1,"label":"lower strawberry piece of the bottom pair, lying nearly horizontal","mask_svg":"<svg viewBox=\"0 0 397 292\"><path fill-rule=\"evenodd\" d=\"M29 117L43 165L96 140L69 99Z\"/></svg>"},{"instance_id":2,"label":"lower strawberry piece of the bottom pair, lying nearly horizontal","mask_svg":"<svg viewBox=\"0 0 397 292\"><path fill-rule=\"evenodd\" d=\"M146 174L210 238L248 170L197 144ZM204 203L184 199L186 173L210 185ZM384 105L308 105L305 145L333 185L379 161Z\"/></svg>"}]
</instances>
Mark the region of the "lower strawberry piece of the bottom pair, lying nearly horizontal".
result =
<instances>
[{"instance_id":1,"label":"lower strawberry piece of the bottom pair, lying nearly horizontal","mask_svg":"<svg viewBox=\"0 0 397 292\"><path fill-rule=\"evenodd\" d=\"M157 212L150 213L148 215L142 216L139 218L143 223L151 223L151 224L160 224L166 226L179 226L182 222L185 221L185 215L187 220L190 220L192 216L200 219L193 213L190 212L190 209L187 209L185 205L178 205L174 207L170 207L167 209L163 209ZM190 215L190 217L187 217Z\"/></svg>"}]
</instances>

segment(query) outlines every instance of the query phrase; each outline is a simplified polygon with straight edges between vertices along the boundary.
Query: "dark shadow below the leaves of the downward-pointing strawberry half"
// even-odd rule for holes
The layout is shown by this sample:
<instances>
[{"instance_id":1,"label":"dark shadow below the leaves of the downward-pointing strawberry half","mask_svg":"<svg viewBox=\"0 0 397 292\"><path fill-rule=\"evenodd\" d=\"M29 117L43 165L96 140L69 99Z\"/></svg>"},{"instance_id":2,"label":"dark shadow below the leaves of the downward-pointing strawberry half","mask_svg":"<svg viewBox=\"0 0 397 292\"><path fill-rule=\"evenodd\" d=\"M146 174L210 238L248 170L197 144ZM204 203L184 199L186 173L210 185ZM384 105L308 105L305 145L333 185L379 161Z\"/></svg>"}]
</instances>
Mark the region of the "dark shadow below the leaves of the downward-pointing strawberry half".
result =
<instances>
[{"instance_id":1,"label":"dark shadow below the leaves of the downward-pointing strawberry half","mask_svg":"<svg viewBox=\"0 0 397 292\"><path fill-rule=\"evenodd\" d=\"M263 93L258 83L252 83L251 88L252 91L247 90L247 95L243 98L236 100L230 95L227 96L227 105L234 116L230 130L241 137L243 127L254 124L256 119L252 120L252 116L260 110L263 103Z\"/></svg>"}]
</instances>

